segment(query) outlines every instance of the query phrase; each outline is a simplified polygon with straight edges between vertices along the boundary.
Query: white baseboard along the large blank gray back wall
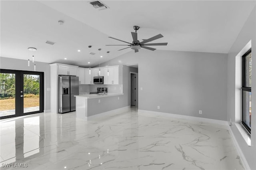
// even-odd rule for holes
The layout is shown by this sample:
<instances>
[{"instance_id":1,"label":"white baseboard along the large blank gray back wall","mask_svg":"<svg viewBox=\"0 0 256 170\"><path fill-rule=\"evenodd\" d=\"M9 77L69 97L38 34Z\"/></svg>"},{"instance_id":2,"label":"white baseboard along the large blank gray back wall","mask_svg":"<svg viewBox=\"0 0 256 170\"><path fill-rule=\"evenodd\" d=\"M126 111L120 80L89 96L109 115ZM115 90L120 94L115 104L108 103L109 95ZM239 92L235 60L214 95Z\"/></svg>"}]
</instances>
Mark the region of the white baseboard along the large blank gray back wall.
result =
<instances>
[{"instance_id":1,"label":"white baseboard along the large blank gray back wall","mask_svg":"<svg viewBox=\"0 0 256 170\"><path fill-rule=\"evenodd\" d=\"M227 121L220 121L220 120L208 119L208 118L203 118L203 117L177 115L177 114L164 113L164 112L146 111L146 110L140 110L140 109L138 109L138 114L146 114L147 116L156 116L156 114L157 114L157 115L175 117L175 118L180 118L180 119L188 119L188 120L194 120L194 121L214 123L214 124L218 124L218 125L228 125Z\"/></svg>"}]
</instances>

